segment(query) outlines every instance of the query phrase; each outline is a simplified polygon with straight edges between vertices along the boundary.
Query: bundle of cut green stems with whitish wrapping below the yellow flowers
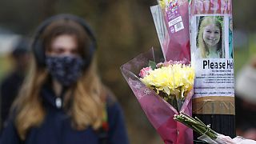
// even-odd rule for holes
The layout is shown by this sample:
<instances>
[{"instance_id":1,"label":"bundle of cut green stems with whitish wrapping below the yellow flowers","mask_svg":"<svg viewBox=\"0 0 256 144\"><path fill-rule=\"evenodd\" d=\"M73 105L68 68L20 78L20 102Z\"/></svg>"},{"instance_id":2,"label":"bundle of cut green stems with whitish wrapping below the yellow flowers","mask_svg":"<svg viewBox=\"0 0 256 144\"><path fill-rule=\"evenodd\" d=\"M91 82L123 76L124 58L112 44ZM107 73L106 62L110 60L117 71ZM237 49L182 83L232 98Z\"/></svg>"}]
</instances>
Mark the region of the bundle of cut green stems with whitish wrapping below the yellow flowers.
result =
<instances>
[{"instance_id":1,"label":"bundle of cut green stems with whitish wrapping below the yellow flowers","mask_svg":"<svg viewBox=\"0 0 256 144\"><path fill-rule=\"evenodd\" d=\"M240 136L232 139L228 136L218 134L214 130L211 130L209 125L206 126L199 118L192 118L184 113L174 115L174 120L183 123L198 134L201 134L202 136L198 139L204 142L211 144L256 144L256 141Z\"/></svg>"}]
</instances>

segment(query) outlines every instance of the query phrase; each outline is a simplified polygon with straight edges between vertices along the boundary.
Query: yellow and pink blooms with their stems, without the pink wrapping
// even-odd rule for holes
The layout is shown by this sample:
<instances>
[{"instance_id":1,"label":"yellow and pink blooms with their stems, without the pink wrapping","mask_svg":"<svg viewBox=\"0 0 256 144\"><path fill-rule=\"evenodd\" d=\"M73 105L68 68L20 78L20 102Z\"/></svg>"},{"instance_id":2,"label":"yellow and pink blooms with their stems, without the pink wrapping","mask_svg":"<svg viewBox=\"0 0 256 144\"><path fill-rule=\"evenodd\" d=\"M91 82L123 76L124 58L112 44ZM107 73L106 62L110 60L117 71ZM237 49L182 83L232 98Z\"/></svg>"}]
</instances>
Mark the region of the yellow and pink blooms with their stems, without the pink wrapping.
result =
<instances>
[{"instance_id":1,"label":"yellow and pink blooms with their stems, without the pink wrapping","mask_svg":"<svg viewBox=\"0 0 256 144\"><path fill-rule=\"evenodd\" d=\"M160 62L140 70L140 80L176 110L181 110L194 85L194 69L185 62Z\"/></svg>"}]
</instances>

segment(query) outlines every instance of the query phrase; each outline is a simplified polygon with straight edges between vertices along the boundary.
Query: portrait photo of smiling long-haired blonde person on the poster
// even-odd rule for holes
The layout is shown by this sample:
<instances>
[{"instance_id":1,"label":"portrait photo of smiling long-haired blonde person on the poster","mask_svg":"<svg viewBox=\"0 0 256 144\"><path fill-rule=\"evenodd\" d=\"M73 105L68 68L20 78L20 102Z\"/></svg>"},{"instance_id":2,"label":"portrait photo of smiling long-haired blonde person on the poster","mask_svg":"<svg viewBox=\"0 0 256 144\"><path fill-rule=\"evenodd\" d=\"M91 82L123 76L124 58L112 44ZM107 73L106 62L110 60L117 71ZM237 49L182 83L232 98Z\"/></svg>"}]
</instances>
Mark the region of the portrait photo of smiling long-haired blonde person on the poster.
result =
<instances>
[{"instance_id":1,"label":"portrait photo of smiling long-haired blonde person on the poster","mask_svg":"<svg viewBox=\"0 0 256 144\"><path fill-rule=\"evenodd\" d=\"M197 26L197 57L225 58L223 16L198 16Z\"/></svg>"}]
</instances>

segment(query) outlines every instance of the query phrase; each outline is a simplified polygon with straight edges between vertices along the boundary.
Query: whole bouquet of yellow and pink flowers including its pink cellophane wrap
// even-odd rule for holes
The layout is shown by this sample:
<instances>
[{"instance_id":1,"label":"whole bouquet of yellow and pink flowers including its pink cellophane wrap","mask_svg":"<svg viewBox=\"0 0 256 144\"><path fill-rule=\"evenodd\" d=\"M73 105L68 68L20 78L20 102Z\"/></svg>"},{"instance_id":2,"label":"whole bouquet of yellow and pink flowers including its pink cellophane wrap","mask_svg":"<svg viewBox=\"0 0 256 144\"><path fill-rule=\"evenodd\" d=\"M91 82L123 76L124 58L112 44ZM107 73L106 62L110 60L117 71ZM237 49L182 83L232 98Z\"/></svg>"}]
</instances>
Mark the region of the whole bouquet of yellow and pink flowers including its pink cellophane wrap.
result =
<instances>
[{"instance_id":1,"label":"whole bouquet of yellow and pink flowers including its pink cellophane wrap","mask_svg":"<svg viewBox=\"0 0 256 144\"><path fill-rule=\"evenodd\" d=\"M194 69L186 61L162 60L152 49L121 66L122 74L164 142L193 143L192 130L174 114L192 114Z\"/></svg>"}]
</instances>

